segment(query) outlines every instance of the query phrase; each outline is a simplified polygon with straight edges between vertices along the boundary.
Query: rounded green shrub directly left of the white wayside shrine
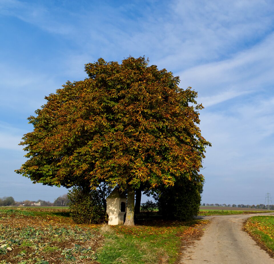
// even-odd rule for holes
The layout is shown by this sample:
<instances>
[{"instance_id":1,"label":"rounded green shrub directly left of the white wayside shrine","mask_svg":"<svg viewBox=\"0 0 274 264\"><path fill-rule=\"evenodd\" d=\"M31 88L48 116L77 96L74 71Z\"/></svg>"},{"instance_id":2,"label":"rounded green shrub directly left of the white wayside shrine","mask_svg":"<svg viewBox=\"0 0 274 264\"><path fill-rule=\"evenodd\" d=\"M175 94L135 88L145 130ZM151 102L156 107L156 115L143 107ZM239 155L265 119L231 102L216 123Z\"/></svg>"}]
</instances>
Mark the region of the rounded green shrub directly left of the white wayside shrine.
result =
<instances>
[{"instance_id":1,"label":"rounded green shrub directly left of the white wayside shrine","mask_svg":"<svg viewBox=\"0 0 274 264\"><path fill-rule=\"evenodd\" d=\"M77 224L102 223L106 219L106 212L102 199L97 190L83 191L80 187L74 187L68 194L70 199L70 216Z\"/></svg>"}]
</instances>

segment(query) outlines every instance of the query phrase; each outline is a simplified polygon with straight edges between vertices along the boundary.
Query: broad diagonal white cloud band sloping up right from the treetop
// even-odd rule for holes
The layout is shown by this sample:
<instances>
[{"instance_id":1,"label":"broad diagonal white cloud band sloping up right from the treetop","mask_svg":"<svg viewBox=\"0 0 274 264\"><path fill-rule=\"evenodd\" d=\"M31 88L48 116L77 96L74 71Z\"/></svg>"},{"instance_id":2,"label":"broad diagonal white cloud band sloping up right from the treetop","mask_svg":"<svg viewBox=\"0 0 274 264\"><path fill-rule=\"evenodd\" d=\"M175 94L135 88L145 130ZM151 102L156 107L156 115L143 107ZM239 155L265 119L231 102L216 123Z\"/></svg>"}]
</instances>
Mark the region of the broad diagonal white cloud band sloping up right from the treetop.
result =
<instances>
[{"instance_id":1,"label":"broad diagonal white cloud band sloping up right from the treetop","mask_svg":"<svg viewBox=\"0 0 274 264\"><path fill-rule=\"evenodd\" d=\"M180 86L192 86L208 106L239 95L263 91L274 83L273 43L274 34L271 34L259 45L239 52L231 59L182 71L178 74Z\"/></svg>"}]
</instances>

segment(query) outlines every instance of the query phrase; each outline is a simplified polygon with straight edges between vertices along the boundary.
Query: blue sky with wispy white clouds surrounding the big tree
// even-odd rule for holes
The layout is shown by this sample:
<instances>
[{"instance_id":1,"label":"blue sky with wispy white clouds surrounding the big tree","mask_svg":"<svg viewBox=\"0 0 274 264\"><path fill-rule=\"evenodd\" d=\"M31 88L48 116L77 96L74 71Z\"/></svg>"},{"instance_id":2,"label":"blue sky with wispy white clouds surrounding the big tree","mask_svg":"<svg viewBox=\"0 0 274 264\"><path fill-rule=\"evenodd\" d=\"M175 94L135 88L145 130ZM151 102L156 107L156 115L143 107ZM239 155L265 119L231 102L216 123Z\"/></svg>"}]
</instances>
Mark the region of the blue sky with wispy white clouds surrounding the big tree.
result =
<instances>
[{"instance_id":1,"label":"blue sky with wispy white clouds surrounding the big tree","mask_svg":"<svg viewBox=\"0 0 274 264\"><path fill-rule=\"evenodd\" d=\"M202 203L256 205L268 192L274 203L272 1L0 0L0 35L0 197L66 193L14 172L27 117L67 80L87 77L84 64L145 55L205 107Z\"/></svg>"}]
</instances>

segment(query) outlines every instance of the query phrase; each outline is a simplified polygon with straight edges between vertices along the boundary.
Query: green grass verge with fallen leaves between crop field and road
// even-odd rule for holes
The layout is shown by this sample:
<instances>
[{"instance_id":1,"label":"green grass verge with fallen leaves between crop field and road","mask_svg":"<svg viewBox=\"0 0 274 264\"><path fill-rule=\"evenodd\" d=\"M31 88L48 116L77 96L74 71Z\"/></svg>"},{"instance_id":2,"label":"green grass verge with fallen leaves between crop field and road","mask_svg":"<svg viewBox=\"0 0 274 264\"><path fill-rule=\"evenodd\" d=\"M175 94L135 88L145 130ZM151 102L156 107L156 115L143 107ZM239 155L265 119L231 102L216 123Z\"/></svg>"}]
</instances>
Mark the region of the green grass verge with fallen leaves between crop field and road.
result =
<instances>
[{"instance_id":1,"label":"green grass verge with fallen leaves between crop field and road","mask_svg":"<svg viewBox=\"0 0 274 264\"><path fill-rule=\"evenodd\" d=\"M97 261L110 263L175 263L181 242L202 230L204 221L154 221L150 225L108 226L101 229L105 245Z\"/></svg>"}]
</instances>

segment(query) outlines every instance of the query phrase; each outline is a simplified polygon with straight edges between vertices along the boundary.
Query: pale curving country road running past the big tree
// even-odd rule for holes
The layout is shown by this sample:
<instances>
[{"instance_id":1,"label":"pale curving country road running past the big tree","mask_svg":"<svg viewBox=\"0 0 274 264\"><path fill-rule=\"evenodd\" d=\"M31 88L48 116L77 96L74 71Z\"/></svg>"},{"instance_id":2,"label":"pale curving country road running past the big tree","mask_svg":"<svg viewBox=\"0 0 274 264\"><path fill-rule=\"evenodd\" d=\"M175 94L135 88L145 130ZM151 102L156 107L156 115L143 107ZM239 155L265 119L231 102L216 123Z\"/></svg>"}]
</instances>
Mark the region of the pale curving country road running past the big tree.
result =
<instances>
[{"instance_id":1,"label":"pale curving country road running past the big tree","mask_svg":"<svg viewBox=\"0 0 274 264\"><path fill-rule=\"evenodd\" d=\"M255 215L273 215L274 213L250 215L207 216L209 219L201 240L183 251L180 263L274 263L267 252L256 245L255 241L242 230L244 221Z\"/></svg>"}]
</instances>

